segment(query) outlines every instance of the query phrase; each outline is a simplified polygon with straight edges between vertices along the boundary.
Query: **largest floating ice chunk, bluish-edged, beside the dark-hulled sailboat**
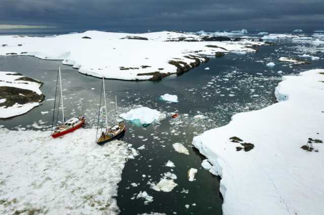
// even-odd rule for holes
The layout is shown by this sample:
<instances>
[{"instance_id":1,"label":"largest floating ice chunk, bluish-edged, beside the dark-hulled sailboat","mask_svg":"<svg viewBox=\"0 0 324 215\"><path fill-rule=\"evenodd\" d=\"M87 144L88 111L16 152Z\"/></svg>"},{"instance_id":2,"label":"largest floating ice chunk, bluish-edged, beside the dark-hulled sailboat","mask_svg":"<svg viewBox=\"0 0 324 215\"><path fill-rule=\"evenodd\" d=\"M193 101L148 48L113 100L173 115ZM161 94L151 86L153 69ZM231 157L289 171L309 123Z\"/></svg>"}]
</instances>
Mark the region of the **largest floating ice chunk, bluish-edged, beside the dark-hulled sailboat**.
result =
<instances>
[{"instance_id":1,"label":"largest floating ice chunk, bluish-edged, beside the dark-hulled sailboat","mask_svg":"<svg viewBox=\"0 0 324 215\"><path fill-rule=\"evenodd\" d=\"M145 125L164 119L165 114L147 107L140 107L132 109L125 114L120 114L119 117L129 121L139 121L139 123Z\"/></svg>"}]
</instances>

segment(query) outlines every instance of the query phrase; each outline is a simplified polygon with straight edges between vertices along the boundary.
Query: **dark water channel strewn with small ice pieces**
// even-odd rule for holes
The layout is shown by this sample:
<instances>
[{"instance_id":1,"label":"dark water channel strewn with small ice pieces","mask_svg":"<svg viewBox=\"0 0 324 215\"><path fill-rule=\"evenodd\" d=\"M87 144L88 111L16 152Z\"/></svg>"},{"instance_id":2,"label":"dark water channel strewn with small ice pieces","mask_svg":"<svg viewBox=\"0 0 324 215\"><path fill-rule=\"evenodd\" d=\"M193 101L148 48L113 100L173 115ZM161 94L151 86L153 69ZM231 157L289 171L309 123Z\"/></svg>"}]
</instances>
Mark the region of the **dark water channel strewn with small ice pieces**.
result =
<instances>
[{"instance_id":1,"label":"dark water channel strewn with small ice pieces","mask_svg":"<svg viewBox=\"0 0 324 215\"><path fill-rule=\"evenodd\" d=\"M277 61L279 57L293 57L303 53L323 57L322 52L316 52L310 45L281 41L275 46L261 47L256 53L229 54L211 59L181 76L169 76L160 82L106 80L108 102L114 101L114 95L117 95L119 114L137 105L165 113L179 113L176 119L167 117L148 127L127 122L128 131L123 140L134 148L145 145L145 149L139 150L140 154L129 160L123 171L116 197L121 214L151 211L167 214L222 214L220 179L200 168L201 161L205 158L191 147L192 138L208 129L226 125L235 113L258 110L275 102L274 88L282 75L324 68L322 60L293 67ZM274 62L276 66L266 67L265 64L269 62ZM62 71L66 118L81 114L86 116L90 126L96 125L101 79L79 74L77 70L62 65L60 61L0 57L0 71L19 72L43 81L45 84L41 90L46 99L54 98L58 65L61 65ZM210 70L205 70L206 67ZM282 71L281 74L277 73L279 70ZM177 94L179 102L171 104L160 100L158 97L165 93ZM109 110L108 118L112 121L114 103L111 103ZM53 100L45 100L43 105L29 113L0 120L0 124L9 129L48 130L51 129L52 111ZM198 114L207 118L194 119ZM176 142L186 146L190 155L174 151L172 144ZM165 166L168 160L176 166L172 170ZM187 179L190 168L198 169L193 182ZM157 183L161 175L167 172L177 175L175 182L178 186L171 192L150 189L147 182ZM142 175L146 177L143 178ZM133 187L131 183L139 185ZM188 192L182 192L183 190ZM153 196L153 202L145 205L143 199L131 199L140 191L146 191ZM186 204L190 205L188 209Z\"/></svg>"}]
</instances>

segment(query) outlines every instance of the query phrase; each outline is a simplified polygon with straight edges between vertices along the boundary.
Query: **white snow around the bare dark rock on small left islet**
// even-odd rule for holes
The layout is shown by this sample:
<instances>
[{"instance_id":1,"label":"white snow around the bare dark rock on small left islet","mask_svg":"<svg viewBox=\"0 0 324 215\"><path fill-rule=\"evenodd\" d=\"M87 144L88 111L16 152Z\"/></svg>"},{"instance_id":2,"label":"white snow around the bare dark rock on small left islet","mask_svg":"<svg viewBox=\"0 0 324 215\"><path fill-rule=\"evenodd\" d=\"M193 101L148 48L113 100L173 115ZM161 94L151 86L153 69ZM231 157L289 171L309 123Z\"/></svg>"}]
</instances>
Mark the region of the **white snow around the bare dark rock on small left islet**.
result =
<instances>
[{"instance_id":1,"label":"white snow around the bare dark rock on small left islet","mask_svg":"<svg viewBox=\"0 0 324 215\"><path fill-rule=\"evenodd\" d=\"M21 78L26 78L23 75L19 75L15 72L3 72L0 71L0 87L15 87L20 89L26 89L31 90L38 95L41 95L42 92L39 90L39 87L41 87L40 83L36 83L33 81L25 81L25 80L19 80ZM5 98L1 98L2 102L4 103L6 101ZM35 106L40 105L39 102L28 102L25 104L19 104L15 103L12 106L0 106L0 119L6 119L14 116L19 116L22 114L25 114L29 112L31 109L35 108Z\"/></svg>"}]
</instances>

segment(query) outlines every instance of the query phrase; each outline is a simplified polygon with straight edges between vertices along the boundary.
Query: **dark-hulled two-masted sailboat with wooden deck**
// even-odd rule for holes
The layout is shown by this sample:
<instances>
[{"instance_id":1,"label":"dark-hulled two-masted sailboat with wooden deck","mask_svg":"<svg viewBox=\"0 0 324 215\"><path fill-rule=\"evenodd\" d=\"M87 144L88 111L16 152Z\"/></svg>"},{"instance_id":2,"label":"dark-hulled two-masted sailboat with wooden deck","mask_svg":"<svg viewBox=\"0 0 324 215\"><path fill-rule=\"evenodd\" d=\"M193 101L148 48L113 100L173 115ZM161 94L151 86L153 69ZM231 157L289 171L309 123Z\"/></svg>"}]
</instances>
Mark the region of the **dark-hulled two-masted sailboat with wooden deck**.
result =
<instances>
[{"instance_id":1,"label":"dark-hulled two-masted sailboat with wooden deck","mask_svg":"<svg viewBox=\"0 0 324 215\"><path fill-rule=\"evenodd\" d=\"M102 89L103 89L103 94L104 94L104 96L103 96L104 97L104 107L103 108L105 110L105 113L103 113L103 116L105 116L105 130L102 131L103 123L101 123L101 136L97 140L97 144L99 144L99 145L123 136L123 134L126 131L126 126L125 126L124 121L118 122L118 119L117 119L117 96L115 96L116 123L113 126L108 127L107 101L106 101L105 78L104 77L102 77L100 105L101 105ZM98 133L98 128L99 128L99 120L100 120L100 110L101 110L100 105L99 105L99 114L98 114L98 122L97 122L97 133ZM102 120L103 120L103 117L102 117ZM96 137L96 139L97 139L97 137Z\"/></svg>"}]
</instances>

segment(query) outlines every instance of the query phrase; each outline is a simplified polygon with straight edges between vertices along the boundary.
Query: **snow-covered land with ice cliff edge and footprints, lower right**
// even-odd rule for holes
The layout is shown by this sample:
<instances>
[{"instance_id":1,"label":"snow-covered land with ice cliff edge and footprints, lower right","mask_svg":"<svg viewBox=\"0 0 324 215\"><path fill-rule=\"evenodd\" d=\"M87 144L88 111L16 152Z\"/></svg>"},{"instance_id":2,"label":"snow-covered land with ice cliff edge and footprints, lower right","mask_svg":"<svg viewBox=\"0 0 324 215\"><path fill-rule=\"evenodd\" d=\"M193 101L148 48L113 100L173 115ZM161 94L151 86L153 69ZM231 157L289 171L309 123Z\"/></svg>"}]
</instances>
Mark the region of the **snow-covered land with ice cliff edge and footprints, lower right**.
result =
<instances>
[{"instance_id":1,"label":"snow-covered land with ice cliff edge and footprints, lower right","mask_svg":"<svg viewBox=\"0 0 324 215\"><path fill-rule=\"evenodd\" d=\"M278 103L193 139L222 178L225 215L324 211L324 70L283 79Z\"/></svg>"}]
</instances>

